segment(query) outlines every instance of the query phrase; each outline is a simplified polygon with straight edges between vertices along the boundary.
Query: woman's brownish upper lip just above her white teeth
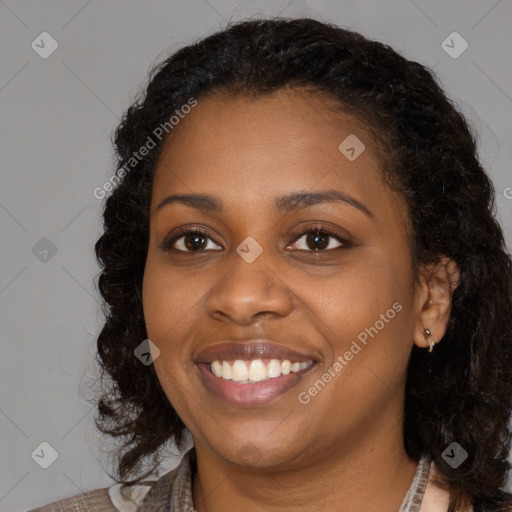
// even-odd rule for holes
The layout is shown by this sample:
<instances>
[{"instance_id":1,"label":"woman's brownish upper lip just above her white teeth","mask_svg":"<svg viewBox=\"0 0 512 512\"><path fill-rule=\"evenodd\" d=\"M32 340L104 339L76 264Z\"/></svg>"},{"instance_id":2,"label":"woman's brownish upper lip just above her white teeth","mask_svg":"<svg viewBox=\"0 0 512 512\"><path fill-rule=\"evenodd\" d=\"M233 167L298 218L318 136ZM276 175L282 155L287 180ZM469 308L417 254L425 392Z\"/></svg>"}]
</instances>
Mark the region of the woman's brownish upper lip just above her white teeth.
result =
<instances>
[{"instance_id":1,"label":"woman's brownish upper lip just above her white teeth","mask_svg":"<svg viewBox=\"0 0 512 512\"><path fill-rule=\"evenodd\" d=\"M194 361L196 363L211 363L212 361L231 361L235 359L288 359L292 362L305 362L315 357L310 353L300 353L273 341L257 338L245 341L224 340L221 343L199 351Z\"/></svg>"}]
</instances>

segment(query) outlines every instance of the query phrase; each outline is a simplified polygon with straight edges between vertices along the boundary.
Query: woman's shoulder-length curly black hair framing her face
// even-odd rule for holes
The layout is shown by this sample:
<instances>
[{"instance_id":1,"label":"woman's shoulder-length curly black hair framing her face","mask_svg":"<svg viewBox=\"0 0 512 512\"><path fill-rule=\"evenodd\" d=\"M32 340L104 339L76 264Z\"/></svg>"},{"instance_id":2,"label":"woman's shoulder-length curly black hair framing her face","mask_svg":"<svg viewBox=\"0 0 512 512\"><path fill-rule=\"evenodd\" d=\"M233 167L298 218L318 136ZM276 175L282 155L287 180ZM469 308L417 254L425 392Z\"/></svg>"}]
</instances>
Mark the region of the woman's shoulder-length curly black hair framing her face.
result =
<instances>
[{"instance_id":1,"label":"woman's shoulder-length curly black hair framing her face","mask_svg":"<svg viewBox=\"0 0 512 512\"><path fill-rule=\"evenodd\" d=\"M511 510L500 488L510 468L512 265L475 135L432 71L313 19L246 20L179 49L151 71L115 132L116 186L95 245L106 317L97 343L103 393L96 425L122 440L119 481L140 475L148 460L143 476L150 474L164 444L182 446L186 432L153 366L141 371L134 357L147 338L142 279L153 175L165 143L155 130L191 98L259 97L285 87L332 96L371 131L383 173L408 207L415 269L442 255L457 262L460 281L442 343L431 354L416 346L411 352L405 448L411 457L432 455L450 511L469 503ZM134 158L150 139L155 147ZM457 469L442 457L454 441L468 453Z\"/></svg>"}]
</instances>

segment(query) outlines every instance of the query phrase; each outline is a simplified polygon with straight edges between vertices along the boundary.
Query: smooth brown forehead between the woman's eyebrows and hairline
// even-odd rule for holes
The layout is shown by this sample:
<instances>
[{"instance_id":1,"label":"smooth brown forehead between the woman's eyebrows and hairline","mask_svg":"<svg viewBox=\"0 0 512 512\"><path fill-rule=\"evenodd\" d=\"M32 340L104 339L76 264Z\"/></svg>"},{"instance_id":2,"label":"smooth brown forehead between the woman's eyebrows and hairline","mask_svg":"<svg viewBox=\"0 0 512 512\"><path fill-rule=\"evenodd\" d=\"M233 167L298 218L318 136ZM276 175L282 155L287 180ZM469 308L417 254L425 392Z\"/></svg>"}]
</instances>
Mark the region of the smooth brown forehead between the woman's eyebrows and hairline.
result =
<instances>
[{"instance_id":1,"label":"smooth brown forehead between the woman's eyebrows and hairline","mask_svg":"<svg viewBox=\"0 0 512 512\"><path fill-rule=\"evenodd\" d=\"M199 99L173 128L153 203L172 191L261 206L272 196L327 188L373 200L390 193L361 120L333 98L300 89L257 99L217 94Z\"/></svg>"}]
</instances>

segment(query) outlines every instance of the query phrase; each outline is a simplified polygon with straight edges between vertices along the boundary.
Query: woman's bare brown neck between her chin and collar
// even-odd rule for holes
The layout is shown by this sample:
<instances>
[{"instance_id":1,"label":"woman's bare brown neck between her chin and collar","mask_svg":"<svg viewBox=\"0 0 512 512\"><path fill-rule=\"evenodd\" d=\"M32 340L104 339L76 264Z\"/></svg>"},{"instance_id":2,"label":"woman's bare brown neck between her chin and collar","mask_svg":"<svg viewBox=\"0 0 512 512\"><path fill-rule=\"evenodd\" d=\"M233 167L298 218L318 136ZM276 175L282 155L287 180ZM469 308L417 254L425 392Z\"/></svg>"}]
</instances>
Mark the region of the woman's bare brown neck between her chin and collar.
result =
<instances>
[{"instance_id":1,"label":"woman's bare brown neck between her chin and collar","mask_svg":"<svg viewBox=\"0 0 512 512\"><path fill-rule=\"evenodd\" d=\"M371 436L351 447L340 440L286 469L235 465L196 443L195 510L396 512L418 461L407 456L396 431L379 434L378 442Z\"/></svg>"}]
</instances>

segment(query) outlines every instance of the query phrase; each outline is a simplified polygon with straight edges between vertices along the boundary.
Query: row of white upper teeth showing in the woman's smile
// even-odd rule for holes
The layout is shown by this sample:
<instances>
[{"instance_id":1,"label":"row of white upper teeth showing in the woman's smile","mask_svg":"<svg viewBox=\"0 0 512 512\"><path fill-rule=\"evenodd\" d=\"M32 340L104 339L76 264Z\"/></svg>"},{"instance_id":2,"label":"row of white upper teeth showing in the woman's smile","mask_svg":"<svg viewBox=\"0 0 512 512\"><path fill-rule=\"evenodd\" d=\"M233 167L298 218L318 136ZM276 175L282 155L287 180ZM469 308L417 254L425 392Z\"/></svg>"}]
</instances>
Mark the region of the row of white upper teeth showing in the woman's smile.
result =
<instances>
[{"instance_id":1,"label":"row of white upper teeth showing in the woman's smile","mask_svg":"<svg viewBox=\"0 0 512 512\"><path fill-rule=\"evenodd\" d=\"M237 359L230 364L228 361L212 361L211 370L216 377L221 377L234 382L260 382L280 375L288 375L290 372L298 372L311 366L313 361L303 363L292 363L288 359L270 359L265 364L261 359L244 361Z\"/></svg>"}]
</instances>

